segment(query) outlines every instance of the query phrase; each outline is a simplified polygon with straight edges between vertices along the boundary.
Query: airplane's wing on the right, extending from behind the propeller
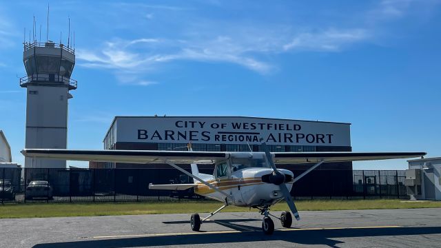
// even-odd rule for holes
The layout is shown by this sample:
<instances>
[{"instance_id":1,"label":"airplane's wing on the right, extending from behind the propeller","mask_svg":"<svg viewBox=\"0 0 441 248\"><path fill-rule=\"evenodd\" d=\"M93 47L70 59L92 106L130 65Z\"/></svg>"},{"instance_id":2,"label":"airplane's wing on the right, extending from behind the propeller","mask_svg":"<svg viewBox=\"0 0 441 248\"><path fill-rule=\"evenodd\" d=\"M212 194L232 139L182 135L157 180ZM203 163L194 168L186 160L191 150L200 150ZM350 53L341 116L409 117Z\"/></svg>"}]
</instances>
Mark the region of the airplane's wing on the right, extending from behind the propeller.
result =
<instances>
[{"instance_id":1,"label":"airplane's wing on the right, extending from behind the propeller","mask_svg":"<svg viewBox=\"0 0 441 248\"><path fill-rule=\"evenodd\" d=\"M425 152L273 152L272 154L274 154L274 163L278 164L376 161L426 155Z\"/></svg>"}]
</instances>

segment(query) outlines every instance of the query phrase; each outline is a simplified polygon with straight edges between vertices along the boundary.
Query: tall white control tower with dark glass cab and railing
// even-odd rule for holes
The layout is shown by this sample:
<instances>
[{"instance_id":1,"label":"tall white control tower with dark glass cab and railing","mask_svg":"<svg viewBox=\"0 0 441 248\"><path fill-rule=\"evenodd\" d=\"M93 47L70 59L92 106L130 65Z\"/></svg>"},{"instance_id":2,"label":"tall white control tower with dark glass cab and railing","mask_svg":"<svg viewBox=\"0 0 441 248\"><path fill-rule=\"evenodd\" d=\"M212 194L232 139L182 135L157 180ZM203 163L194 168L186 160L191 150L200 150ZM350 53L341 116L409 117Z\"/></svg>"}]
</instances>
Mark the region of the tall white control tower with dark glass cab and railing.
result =
<instances>
[{"instance_id":1,"label":"tall white control tower with dark glass cab and railing","mask_svg":"<svg viewBox=\"0 0 441 248\"><path fill-rule=\"evenodd\" d=\"M27 90L25 148L65 149L68 143L68 99L76 81L70 78L75 52L52 41L24 43L27 76L20 86ZM65 168L66 161L25 158L28 168Z\"/></svg>"}]
</instances>

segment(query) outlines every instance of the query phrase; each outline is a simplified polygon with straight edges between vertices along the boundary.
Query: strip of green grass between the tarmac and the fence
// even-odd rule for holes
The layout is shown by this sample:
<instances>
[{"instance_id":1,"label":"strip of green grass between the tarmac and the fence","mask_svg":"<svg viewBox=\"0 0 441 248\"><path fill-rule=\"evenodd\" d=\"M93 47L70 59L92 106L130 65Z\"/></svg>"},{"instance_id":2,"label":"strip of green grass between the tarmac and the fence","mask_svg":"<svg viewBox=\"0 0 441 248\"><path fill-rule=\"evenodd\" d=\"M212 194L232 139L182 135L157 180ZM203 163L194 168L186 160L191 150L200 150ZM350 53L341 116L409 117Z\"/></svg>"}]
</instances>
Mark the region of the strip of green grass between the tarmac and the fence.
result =
<instances>
[{"instance_id":1,"label":"strip of green grass between the tarmac and the fence","mask_svg":"<svg viewBox=\"0 0 441 248\"><path fill-rule=\"evenodd\" d=\"M117 216L130 214L189 214L207 213L221 204L207 202L179 203L31 203L0 205L0 218L35 218L68 216ZM441 202L407 202L400 200L297 200L299 211L351 210L351 209L410 209L441 207ZM285 203L271 207L273 211L286 210ZM250 211L245 207L227 207L223 211ZM251 209L256 211L256 209Z\"/></svg>"}]
</instances>

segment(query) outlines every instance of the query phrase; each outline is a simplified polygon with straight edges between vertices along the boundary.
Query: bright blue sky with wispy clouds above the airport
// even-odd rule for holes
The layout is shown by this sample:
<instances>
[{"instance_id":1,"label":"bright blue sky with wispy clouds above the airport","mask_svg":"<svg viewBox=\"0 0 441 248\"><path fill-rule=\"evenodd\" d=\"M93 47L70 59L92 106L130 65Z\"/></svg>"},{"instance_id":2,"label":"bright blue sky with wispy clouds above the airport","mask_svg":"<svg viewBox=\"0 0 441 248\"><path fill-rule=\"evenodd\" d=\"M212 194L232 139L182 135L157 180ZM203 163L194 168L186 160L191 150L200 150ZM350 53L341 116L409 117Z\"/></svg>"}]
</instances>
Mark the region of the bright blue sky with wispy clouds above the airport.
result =
<instances>
[{"instance_id":1,"label":"bright blue sky with wispy clouds above the airport","mask_svg":"<svg viewBox=\"0 0 441 248\"><path fill-rule=\"evenodd\" d=\"M76 37L71 149L102 149L116 115L238 115L348 122L354 151L441 156L439 0L49 3L50 39L67 43L68 16ZM0 5L0 129L18 163L23 28L35 16L45 37L46 9Z\"/></svg>"}]
</instances>

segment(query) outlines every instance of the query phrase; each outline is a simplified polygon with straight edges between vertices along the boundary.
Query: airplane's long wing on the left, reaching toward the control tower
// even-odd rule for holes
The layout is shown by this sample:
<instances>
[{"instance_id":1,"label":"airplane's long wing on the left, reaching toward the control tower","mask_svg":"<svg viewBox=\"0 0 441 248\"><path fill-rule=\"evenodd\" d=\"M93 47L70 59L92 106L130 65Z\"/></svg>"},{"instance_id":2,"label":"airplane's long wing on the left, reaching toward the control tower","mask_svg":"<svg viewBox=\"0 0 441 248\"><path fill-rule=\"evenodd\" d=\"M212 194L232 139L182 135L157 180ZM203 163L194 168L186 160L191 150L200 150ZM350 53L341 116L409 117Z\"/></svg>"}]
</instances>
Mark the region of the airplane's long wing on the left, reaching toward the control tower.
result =
<instances>
[{"instance_id":1,"label":"airplane's long wing on the left, reaching toward the control tower","mask_svg":"<svg viewBox=\"0 0 441 248\"><path fill-rule=\"evenodd\" d=\"M21 153L32 158L139 164L164 163L165 161L176 164L214 164L229 158L229 153L227 152L23 149Z\"/></svg>"}]
</instances>

